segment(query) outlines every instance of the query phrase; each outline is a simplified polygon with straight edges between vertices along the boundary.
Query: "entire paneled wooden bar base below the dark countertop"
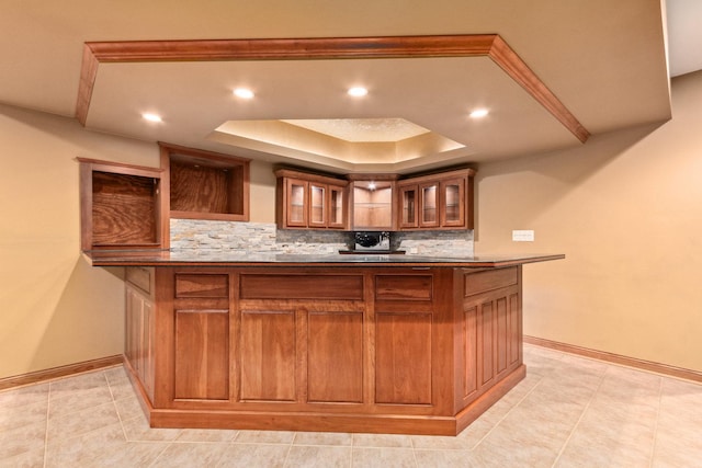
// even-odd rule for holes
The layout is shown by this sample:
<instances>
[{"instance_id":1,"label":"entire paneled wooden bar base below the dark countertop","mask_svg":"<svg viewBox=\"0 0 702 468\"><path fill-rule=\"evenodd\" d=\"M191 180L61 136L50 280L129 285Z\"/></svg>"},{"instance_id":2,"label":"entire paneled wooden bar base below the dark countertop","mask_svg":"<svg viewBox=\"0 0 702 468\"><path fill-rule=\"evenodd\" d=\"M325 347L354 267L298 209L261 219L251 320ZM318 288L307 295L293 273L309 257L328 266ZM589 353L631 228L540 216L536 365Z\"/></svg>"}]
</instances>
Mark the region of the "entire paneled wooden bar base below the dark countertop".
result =
<instances>
[{"instance_id":1,"label":"entire paneled wooden bar base below the dark countertop","mask_svg":"<svg viewBox=\"0 0 702 468\"><path fill-rule=\"evenodd\" d=\"M455 435L525 374L521 265L127 267L151 426Z\"/></svg>"}]
</instances>

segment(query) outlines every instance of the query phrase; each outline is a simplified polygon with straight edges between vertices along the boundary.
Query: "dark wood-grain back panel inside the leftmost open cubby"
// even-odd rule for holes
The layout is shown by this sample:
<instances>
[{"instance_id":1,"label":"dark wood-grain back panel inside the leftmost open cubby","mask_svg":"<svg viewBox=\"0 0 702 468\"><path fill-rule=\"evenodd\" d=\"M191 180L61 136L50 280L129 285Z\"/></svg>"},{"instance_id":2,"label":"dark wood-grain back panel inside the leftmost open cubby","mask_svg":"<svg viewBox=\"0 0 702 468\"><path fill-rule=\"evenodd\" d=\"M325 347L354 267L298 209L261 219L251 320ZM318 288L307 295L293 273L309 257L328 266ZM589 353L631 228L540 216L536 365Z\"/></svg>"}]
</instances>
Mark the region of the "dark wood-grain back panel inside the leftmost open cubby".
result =
<instances>
[{"instance_id":1,"label":"dark wood-grain back panel inside the leftmost open cubby","mask_svg":"<svg viewBox=\"0 0 702 468\"><path fill-rule=\"evenodd\" d=\"M94 171L92 174L92 243L156 243L155 179Z\"/></svg>"}]
</instances>

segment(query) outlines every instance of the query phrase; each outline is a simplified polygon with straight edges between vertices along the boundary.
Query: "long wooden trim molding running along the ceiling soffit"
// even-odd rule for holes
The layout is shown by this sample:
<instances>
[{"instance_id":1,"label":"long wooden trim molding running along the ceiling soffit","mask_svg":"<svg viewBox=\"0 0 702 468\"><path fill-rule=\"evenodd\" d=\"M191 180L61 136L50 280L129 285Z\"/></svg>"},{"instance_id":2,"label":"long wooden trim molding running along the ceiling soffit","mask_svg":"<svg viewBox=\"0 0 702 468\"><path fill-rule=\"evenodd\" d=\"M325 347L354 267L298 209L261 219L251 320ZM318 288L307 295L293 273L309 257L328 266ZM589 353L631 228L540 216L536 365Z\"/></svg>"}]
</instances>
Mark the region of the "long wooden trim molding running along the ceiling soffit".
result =
<instances>
[{"instance_id":1,"label":"long wooden trim molding running along the ceiling soffit","mask_svg":"<svg viewBox=\"0 0 702 468\"><path fill-rule=\"evenodd\" d=\"M86 125L101 62L489 57L580 141L590 134L498 34L88 42L76 104Z\"/></svg>"}]
</instances>

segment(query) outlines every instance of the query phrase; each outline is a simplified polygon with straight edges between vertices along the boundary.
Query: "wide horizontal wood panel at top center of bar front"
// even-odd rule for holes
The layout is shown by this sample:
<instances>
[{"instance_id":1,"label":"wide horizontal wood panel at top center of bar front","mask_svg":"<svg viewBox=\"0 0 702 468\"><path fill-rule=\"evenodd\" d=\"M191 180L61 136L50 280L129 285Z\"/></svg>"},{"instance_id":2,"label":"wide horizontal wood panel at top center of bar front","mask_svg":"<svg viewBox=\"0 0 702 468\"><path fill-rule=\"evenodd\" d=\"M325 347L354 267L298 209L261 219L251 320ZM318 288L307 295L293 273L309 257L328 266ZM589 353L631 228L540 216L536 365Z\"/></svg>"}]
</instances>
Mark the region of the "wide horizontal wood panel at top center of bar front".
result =
<instances>
[{"instance_id":1,"label":"wide horizontal wood panel at top center of bar front","mask_svg":"<svg viewBox=\"0 0 702 468\"><path fill-rule=\"evenodd\" d=\"M363 275L242 274L241 299L363 299Z\"/></svg>"}]
</instances>

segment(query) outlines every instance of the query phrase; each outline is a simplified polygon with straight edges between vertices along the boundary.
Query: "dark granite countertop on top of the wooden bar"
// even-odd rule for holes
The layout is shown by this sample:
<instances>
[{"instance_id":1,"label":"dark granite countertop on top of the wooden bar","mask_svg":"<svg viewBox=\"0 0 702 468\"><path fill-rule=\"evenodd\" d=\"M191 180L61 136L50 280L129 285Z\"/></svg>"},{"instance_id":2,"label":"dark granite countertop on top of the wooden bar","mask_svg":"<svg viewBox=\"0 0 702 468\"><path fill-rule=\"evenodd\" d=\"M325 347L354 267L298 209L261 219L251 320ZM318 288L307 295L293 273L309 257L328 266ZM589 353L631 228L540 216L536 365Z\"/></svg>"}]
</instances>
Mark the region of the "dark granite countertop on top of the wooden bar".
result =
<instances>
[{"instance_id":1,"label":"dark granite countertop on top of the wooden bar","mask_svg":"<svg viewBox=\"0 0 702 468\"><path fill-rule=\"evenodd\" d=\"M462 266L499 267L565 259L564 254L421 256L392 254L281 254L196 251L86 251L93 266Z\"/></svg>"}]
</instances>

